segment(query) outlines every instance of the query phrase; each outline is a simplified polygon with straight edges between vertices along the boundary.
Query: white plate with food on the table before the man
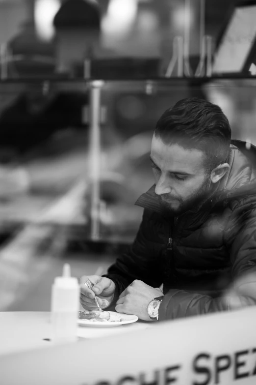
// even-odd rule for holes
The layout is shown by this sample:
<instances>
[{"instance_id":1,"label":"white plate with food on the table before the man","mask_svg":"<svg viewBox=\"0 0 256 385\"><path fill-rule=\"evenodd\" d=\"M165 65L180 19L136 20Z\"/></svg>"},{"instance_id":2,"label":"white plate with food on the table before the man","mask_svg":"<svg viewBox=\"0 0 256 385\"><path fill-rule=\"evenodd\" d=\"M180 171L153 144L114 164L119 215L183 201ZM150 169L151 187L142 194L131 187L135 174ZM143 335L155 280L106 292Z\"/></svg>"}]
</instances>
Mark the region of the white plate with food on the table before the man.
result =
<instances>
[{"instance_id":1,"label":"white plate with food on the table before the man","mask_svg":"<svg viewBox=\"0 0 256 385\"><path fill-rule=\"evenodd\" d=\"M133 322L138 321L137 316L133 316L129 314L117 313L116 311L110 311L109 314L110 314L110 320L106 322L78 319L77 323L79 326L113 327L113 326L131 324ZM111 321L115 321L115 322L111 322Z\"/></svg>"}]
</instances>

